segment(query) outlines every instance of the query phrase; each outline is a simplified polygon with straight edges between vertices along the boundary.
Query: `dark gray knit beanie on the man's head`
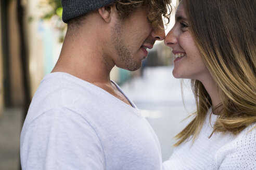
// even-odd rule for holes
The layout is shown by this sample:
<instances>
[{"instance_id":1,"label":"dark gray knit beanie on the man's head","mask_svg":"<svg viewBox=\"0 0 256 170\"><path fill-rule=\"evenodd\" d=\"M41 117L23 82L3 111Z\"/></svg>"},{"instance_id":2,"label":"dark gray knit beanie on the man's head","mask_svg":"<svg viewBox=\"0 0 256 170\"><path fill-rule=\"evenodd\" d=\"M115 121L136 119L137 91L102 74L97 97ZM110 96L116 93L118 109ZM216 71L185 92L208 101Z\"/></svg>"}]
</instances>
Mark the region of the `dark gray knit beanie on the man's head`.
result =
<instances>
[{"instance_id":1,"label":"dark gray knit beanie on the man's head","mask_svg":"<svg viewBox=\"0 0 256 170\"><path fill-rule=\"evenodd\" d=\"M61 0L63 8L62 20L68 20L84 15L85 13L108 5L117 0Z\"/></svg>"}]
</instances>

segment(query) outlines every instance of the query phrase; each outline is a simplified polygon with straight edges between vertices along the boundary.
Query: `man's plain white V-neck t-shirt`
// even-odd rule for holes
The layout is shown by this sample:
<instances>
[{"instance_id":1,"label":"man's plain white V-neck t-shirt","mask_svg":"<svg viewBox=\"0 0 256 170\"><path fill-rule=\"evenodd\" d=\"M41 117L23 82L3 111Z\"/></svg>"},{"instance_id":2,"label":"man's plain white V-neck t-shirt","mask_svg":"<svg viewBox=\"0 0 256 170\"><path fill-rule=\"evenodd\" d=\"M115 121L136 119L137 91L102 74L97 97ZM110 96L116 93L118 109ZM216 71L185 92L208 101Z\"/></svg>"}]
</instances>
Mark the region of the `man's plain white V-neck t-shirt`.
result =
<instances>
[{"instance_id":1,"label":"man's plain white V-neck t-shirt","mask_svg":"<svg viewBox=\"0 0 256 170\"><path fill-rule=\"evenodd\" d=\"M22 128L22 169L162 169L158 138L130 103L67 73L47 75Z\"/></svg>"}]
</instances>

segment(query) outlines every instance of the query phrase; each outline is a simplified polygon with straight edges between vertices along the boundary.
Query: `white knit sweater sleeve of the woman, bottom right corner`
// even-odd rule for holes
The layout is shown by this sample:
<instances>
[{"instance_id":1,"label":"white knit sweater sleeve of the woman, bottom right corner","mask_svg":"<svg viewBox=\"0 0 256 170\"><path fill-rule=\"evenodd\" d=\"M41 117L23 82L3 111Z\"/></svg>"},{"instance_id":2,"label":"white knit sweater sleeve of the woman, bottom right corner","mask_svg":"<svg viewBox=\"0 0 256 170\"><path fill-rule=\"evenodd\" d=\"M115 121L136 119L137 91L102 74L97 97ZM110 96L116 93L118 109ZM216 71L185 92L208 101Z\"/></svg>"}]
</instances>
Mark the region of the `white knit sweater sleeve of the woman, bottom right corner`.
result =
<instances>
[{"instance_id":1,"label":"white knit sweater sleeve of the woman, bottom right corner","mask_svg":"<svg viewBox=\"0 0 256 170\"><path fill-rule=\"evenodd\" d=\"M242 131L237 138L220 148L215 154L219 170L256 169L255 123Z\"/></svg>"}]
</instances>

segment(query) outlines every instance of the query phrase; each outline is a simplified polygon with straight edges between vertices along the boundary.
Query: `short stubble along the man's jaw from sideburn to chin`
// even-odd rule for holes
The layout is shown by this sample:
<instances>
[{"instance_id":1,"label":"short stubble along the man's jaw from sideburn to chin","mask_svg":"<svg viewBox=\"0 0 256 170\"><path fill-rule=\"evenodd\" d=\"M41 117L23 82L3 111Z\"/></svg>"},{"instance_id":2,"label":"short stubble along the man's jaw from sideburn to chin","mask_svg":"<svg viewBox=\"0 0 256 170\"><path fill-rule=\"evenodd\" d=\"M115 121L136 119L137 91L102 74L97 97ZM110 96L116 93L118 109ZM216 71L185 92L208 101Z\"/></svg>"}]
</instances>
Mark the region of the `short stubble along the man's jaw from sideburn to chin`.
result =
<instances>
[{"instance_id":1,"label":"short stubble along the man's jaw from sideburn to chin","mask_svg":"<svg viewBox=\"0 0 256 170\"><path fill-rule=\"evenodd\" d=\"M129 47L125 45L122 39L121 24L121 21L117 22L112 29L112 44L117 51L118 60L122 63L123 68L134 71L140 68L142 63L136 62L135 56L132 55Z\"/></svg>"}]
</instances>

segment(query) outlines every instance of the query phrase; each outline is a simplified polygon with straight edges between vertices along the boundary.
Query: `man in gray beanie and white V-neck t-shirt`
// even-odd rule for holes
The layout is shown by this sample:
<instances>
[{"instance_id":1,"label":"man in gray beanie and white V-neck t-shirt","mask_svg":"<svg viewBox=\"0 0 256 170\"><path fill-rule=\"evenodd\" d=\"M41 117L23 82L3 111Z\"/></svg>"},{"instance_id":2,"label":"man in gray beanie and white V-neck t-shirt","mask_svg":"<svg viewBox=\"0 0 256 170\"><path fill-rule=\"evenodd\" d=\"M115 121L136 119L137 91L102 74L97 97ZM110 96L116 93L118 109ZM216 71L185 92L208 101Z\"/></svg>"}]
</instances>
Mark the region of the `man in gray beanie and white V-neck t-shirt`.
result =
<instances>
[{"instance_id":1,"label":"man in gray beanie and white V-neck t-shirt","mask_svg":"<svg viewBox=\"0 0 256 170\"><path fill-rule=\"evenodd\" d=\"M169 3L62 0L68 30L22 128L22 169L162 168L157 136L109 75L138 69L164 39Z\"/></svg>"}]
</instances>

